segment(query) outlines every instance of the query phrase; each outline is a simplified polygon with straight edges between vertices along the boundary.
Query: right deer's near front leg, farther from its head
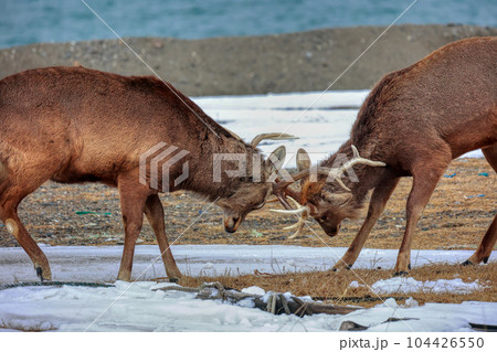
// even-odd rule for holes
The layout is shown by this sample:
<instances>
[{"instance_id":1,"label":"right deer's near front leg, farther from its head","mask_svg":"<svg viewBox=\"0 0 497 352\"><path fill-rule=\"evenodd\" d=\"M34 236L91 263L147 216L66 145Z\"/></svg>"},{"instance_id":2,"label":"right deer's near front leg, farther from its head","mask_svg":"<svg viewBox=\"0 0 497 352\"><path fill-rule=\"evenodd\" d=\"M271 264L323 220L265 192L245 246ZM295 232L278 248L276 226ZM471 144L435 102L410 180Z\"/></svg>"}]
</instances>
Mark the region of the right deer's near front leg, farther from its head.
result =
<instances>
[{"instance_id":1,"label":"right deer's near front leg, farther from its head","mask_svg":"<svg viewBox=\"0 0 497 352\"><path fill-rule=\"evenodd\" d=\"M406 204L405 232L399 249L394 276L406 275L411 268L411 246L417 221L450 162L451 153L447 152L446 158L443 158L443 154L434 156L432 160L423 160L413 168L413 185Z\"/></svg>"}]
</instances>

